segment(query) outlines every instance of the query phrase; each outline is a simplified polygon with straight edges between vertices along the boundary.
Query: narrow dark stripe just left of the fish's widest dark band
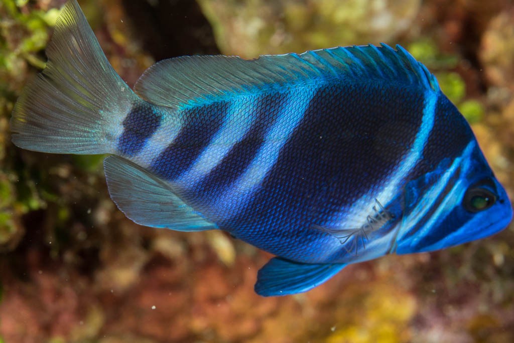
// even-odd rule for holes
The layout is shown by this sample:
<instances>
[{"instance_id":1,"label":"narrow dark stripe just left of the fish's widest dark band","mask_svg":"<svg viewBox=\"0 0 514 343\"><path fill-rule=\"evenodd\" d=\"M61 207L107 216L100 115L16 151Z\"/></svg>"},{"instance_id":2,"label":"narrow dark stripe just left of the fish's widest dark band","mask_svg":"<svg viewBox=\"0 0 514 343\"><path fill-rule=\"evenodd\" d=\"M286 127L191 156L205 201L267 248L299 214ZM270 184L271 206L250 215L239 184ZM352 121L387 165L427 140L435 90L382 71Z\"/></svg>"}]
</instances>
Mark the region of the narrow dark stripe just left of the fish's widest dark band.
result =
<instances>
[{"instance_id":1,"label":"narrow dark stripe just left of the fish's widest dark band","mask_svg":"<svg viewBox=\"0 0 514 343\"><path fill-rule=\"evenodd\" d=\"M213 170L198 184L197 189L209 194L220 187L227 187L248 168L264 143L264 136L277 121L287 95L272 93L262 96L255 106L255 120L241 141L237 142Z\"/></svg>"}]
</instances>

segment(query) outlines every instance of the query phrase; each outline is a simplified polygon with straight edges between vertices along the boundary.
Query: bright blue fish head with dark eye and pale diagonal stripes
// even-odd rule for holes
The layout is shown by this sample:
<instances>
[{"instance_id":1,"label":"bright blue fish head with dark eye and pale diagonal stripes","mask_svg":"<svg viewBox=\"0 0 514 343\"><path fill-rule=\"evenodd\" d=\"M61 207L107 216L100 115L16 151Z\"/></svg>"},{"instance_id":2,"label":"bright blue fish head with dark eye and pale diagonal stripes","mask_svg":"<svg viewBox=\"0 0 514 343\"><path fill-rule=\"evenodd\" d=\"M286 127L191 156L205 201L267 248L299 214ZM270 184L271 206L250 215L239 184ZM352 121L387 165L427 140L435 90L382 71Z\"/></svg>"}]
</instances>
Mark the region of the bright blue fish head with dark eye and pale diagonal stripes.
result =
<instances>
[{"instance_id":1,"label":"bright blue fish head with dark eye and pale diagonal stripes","mask_svg":"<svg viewBox=\"0 0 514 343\"><path fill-rule=\"evenodd\" d=\"M512 219L507 192L473 139L460 157L409 182L397 254L433 251L491 236Z\"/></svg>"}]
</instances>

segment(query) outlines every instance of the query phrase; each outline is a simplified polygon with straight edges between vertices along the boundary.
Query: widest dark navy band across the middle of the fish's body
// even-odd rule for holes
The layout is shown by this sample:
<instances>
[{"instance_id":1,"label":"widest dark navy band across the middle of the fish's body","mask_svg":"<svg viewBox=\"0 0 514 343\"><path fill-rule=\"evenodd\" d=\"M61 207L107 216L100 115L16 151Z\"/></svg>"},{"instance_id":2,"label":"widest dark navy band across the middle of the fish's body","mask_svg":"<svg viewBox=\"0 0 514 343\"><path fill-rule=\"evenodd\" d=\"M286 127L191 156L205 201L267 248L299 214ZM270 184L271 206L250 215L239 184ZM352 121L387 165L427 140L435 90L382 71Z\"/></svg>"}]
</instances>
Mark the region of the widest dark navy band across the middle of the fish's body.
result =
<instances>
[{"instance_id":1,"label":"widest dark navy band across the middle of the fish's body","mask_svg":"<svg viewBox=\"0 0 514 343\"><path fill-rule=\"evenodd\" d=\"M270 234L318 234L300 228L324 225L388 182L386 176L410 151L419 131L421 91L378 85L320 88L258 193L222 226L271 251L275 240L281 246L283 242ZM254 230L266 234L246 237Z\"/></svg>"}]
</instances>

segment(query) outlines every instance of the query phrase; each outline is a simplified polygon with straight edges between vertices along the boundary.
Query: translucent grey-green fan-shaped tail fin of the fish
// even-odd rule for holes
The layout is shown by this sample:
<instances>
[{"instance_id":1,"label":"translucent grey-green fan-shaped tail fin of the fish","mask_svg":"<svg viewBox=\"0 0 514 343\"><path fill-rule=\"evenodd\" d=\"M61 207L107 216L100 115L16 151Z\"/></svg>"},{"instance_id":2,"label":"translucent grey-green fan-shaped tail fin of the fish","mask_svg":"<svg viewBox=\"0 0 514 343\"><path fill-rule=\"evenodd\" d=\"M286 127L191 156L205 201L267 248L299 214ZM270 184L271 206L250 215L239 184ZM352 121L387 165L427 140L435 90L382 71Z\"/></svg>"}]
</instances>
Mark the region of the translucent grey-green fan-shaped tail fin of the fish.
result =
<instances>
[{"instance_id":1,"label":"translucent grey-green fan-shaped tail fin of the fish","mask_svg":"<svg viewBox=\"0 0 514 343\"><path fill-rule=\"evenodd\" d=\"M46 54L46 68L14 106L14 144L51 153L114 152L122 119L141 100L107 61L76 0L63 7Z\"/></svg>"}]
</instances>

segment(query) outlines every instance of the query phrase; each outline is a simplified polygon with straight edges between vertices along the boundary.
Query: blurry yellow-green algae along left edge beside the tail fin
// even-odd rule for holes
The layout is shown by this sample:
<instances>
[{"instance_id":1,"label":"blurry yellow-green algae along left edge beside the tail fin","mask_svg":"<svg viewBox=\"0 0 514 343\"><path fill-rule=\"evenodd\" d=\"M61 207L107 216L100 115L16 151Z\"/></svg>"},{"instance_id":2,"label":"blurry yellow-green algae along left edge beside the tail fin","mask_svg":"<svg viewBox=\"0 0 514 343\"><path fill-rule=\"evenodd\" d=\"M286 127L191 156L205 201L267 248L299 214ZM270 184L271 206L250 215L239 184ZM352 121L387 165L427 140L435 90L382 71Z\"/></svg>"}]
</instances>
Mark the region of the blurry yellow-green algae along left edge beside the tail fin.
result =
<instances>
[{"instance_id":1,"label":"blurry yellow-green algae along left edge beside the tail fin","mask_svg":"<svg viewBox=\"0 0 514 343\"><path fill-rule=\"evenodd\" d=\"M58 9L35 9L26 1L0 4L0 248L12 250L23 235L21 216L46 206L38 183L41 174L20 163L9 142L8 118L27 79L44 68L42 51L49 41Z\"/></svg>"}]
</instances>

